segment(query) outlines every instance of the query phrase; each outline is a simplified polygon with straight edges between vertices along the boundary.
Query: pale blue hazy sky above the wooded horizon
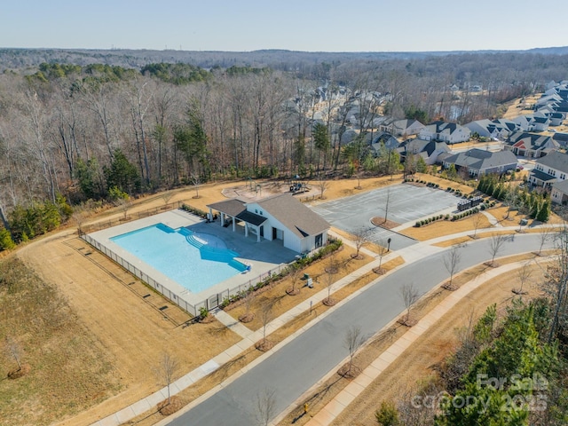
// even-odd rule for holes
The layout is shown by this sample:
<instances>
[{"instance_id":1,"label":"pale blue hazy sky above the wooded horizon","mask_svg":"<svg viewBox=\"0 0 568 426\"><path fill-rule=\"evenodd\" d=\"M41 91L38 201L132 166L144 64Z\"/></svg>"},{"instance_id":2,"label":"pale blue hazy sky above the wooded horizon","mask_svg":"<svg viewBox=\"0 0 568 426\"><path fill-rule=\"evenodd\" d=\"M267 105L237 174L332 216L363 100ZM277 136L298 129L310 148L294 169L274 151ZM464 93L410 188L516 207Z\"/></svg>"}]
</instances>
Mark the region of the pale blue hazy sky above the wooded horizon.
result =
<instances>
[{"instance_id":1,"label":"pale blue hazy sky above the wooded horizon","mask_svg":"<svg viewBox=\"0 0 568 426\"><path fill-rule=\"evenodd\" d=\"M5 0L0 47L477 51L568 45L567 0Z\"/></svg>"}]
</instances>

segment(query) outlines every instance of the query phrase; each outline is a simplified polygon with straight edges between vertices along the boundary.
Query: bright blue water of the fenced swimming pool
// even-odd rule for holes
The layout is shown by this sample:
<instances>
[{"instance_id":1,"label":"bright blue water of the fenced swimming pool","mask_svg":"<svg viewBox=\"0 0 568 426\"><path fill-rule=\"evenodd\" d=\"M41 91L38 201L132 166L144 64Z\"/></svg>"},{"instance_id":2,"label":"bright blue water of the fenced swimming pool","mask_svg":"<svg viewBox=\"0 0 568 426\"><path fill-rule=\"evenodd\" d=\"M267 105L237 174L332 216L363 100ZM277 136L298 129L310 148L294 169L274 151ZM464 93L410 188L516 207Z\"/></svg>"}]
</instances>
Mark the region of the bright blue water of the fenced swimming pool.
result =
<instances>
[{"instance_id":1,"label":"bright blue water of the fenced swimming pool","mask_svg":"<svg viewBox=\"0 0 568 426\"><path fill-rule=\"evenodd\" d=\"M110 239L192 293L244 271L238 253L210 234L158 224Z\"/></svg>"}]
</instances>

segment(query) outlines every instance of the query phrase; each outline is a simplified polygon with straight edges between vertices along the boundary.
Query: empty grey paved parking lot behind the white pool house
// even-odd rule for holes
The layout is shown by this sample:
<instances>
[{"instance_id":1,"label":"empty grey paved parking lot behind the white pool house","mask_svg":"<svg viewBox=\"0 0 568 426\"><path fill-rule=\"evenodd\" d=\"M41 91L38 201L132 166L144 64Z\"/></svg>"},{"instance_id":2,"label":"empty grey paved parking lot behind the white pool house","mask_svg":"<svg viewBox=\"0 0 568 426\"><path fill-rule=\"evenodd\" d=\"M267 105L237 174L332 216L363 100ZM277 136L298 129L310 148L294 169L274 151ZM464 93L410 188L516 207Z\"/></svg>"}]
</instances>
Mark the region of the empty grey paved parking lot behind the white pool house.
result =
<instances>
[{"instance_id":1,"label":"empty grey paved parking lot behind the white pool house","mask_svg":"<svg viewBox=\"0 0 568 426\"><path fill-rule=\"evenodd\" d=\"M387 199L388 214L385 211ZM371 218L387 215L389 220L402 225L434 216L442 210L457 209L458 201L458 197L446 191L428 186L399 184L318 204L312 209L331 225L348 233L356 233L361 228L368 229L371 232L369 240L383 246L390 238L390 248L398 250L415 244L416 241L371 224Z\"/></svg>"}]
</instances>

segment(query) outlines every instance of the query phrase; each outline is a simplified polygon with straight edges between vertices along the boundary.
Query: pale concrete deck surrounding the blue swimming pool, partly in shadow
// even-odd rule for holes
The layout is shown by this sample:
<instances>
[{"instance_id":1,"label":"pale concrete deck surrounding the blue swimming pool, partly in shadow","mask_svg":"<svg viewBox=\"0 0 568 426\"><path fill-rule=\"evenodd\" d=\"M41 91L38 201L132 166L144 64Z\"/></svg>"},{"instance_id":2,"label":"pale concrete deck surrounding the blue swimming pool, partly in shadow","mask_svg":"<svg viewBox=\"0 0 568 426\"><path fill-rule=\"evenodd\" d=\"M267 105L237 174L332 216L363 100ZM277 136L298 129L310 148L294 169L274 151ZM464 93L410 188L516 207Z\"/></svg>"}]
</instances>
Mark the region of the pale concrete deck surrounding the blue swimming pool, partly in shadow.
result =
<instances>
[{"instance_id":1,"label":"pale concrete deck surrounding the blue swimming pool, partly in shadow","mask_svg":"<svg viewBox=\"0 0 568 426\"><path fill-rule=\"evenodd\" d=\"M147 226L163 224L170 226L172 229L186 227L194 233L207 233L215 235L225 244L228 249L239 253L237 260L250 264L250 272L236 273L228 280L221 281L200 293L192 293L175 280L171 280L168 276L154 269L149 264L142 262L137 256L133 256L129 251L121 248L111 238L130 233ZM171 292L184 299L189 304L200 304L203 300L210 296L217 295L223 291L239 286L248 287L254 285L260 275L267 272L277 270L282 264L288 264L295 260L296 252L284 248L281 241L268 241L261 238L256 241L256 235L244 235L244 228L237 225L233 232L233 227L223 227L220 222L207 223L201 217L196 217L181 209L170 210L151 217L134 220L123 225L116 225L106 228L96 233L90 233L91 238L98 241L102 246L113 251L117 256L122 257L128 263L136 266L138 270L152 277L163 287L168 288ZM151 241L150 241L151 243Z\"/></svg>"}]
</instances>

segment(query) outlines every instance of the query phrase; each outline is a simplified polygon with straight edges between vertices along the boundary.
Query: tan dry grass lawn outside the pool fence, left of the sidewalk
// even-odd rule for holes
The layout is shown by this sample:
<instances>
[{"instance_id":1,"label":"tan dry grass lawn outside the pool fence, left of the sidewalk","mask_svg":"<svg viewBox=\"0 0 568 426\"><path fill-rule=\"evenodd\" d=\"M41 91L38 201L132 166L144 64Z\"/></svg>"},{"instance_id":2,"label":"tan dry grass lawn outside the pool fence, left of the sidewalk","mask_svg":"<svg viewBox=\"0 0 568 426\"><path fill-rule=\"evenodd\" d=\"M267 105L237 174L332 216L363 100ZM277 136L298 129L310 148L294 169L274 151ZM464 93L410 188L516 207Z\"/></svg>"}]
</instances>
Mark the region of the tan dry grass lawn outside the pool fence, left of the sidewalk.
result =
<instances>
[{"instance_id":1,"label":"tan dry grass lawn outside the pool fence, left of the sidewalk","mask_svg":"<svg viewBox=\"0 0 568 426\"><path fill-rule=\"evenodd\" d=\"M83 245L83 250L70 246L70 242ZM107 359L112 366L110 375L116 385L109 386L106 393L101 394L106 400L101 402L100 396L88 399L90 404L87 406L94 406L93 409L66 419L87 406L69 409L66 415L58 418L59 424L63 425L91 424L160 389L162 380L152 371L158 367L163 351L169 351L179 361L185 374L240 340L217 321L190 327L177 326L156 309L170 304L166 299L150 289L147 289L147 294L151 296L142 297L130 288L141 284L136 283L128 272L102 255L93 262L92 256L97 254L86 256L89 252L86 244L64 233L34 241L17 253L45 283L58 289L67 300L79 327L96 342L91 348L94 357ZM149 303L150 298L154 298L153 304ZM177 320L182 319L182 312L173 313L175 309L170 304L164 312L170 311ZM185 319L189 319L187 314ZM192 356L188 357L188 353ZM94 363L92 366L90 363L76 364L69 366L67 374L75 375L82 371L88 375L91 368L96 367ZM89 392L90 388L86 384L84 391ZM69 387L70 399L72 391L73 388ZM108 398L112 395L114 398ZM44 412L58 412L58 404L58 401L51 400L44 406ZM41 414L41 410L30 410L29 414ZM32 422L39 424L38 421Z\"/></svg>"}]
</instances>

